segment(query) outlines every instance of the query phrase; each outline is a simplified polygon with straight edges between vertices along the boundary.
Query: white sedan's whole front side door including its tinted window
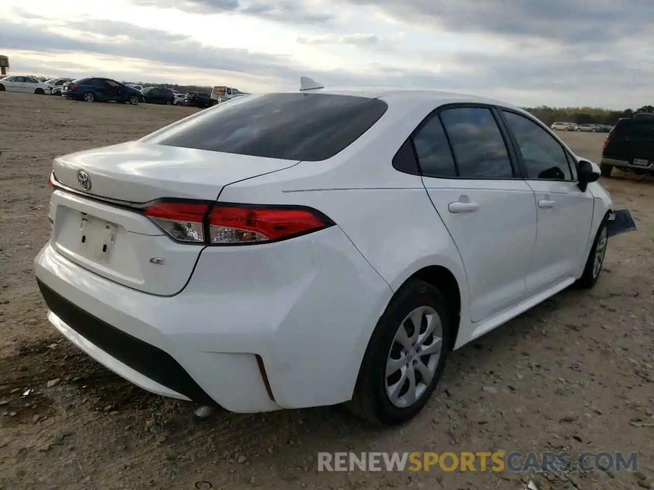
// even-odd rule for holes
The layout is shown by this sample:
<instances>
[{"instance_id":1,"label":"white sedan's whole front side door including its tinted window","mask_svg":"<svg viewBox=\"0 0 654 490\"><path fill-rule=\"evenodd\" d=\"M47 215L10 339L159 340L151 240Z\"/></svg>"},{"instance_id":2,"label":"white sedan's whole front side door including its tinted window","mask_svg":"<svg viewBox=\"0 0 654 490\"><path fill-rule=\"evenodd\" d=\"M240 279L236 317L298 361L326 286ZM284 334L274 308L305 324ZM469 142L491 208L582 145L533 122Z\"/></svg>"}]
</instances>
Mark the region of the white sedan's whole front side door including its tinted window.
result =
<instances>
[{"instance_id":1,"label":"white sedan's whole front side door including its tinted window","mask_svg":"<svg viewBox=\"0 0 654 490\"><path fill-rule=\"evenodd\" d=\"M576 162L551 132L517 112L502 111L526 183L534 189L538 239L526 277L536 293L575 276L585 263L593 221L593 194L577 187Z\"/></svg>"}]
</instances>

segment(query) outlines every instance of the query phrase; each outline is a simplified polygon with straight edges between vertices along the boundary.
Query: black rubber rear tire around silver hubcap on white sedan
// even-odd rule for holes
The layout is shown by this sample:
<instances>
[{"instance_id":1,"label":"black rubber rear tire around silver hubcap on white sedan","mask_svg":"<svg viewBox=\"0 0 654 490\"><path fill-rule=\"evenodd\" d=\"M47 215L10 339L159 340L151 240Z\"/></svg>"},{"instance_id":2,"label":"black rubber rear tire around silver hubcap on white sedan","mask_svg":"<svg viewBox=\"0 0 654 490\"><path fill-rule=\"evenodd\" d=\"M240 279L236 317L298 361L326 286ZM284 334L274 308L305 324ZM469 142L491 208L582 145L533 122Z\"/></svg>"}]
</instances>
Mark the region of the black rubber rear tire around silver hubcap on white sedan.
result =
<instances>
[{"instance_id":1,"label":"black rubber rear tire around silver hubcap on white sedan","mask_svg":"<svg viewBox=\"0 0 654 490\"><path fill-rule=\"evenodd\" d=\"M394 339L400 327L405 325L403 320L422 306L435 310L441 320L441 353L432 380L422 395L413 404L400 408L391 402L387 394L387 379L390 379L386 376L387 361L391 349L398 346ZM419 280L407 282L397 291L379 318L361 363L353 398L345 406L356 416L374 425L399 425L415 417L428 402L443 373L449 346L454 344L451 342L452 325L451 313L436 287ZM411 362L411 357L413 356L409 355L407 362Z\"/></svg>"}]
</instances>

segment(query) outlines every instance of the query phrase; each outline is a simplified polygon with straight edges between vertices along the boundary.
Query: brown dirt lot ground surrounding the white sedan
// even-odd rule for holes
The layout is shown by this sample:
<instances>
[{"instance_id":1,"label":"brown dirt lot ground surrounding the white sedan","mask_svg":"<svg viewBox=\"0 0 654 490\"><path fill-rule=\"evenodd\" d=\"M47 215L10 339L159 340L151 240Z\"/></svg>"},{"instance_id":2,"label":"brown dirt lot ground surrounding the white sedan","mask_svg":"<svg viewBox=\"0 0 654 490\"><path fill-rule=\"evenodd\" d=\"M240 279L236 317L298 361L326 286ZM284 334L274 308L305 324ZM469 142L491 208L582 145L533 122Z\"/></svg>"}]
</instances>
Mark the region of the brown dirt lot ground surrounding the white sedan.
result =
<instances>
[{"instance_id":1,"label":"brown dirt lot ground surrounding the white sedan","mask_svg":"<svg viewBox=\"0 0 654 490\"><path fill-rule=\"evenodd\" d=\"M191 112L0 93L0 489L525 488L525 474L318 472L316 461L318 451L498 449L635 451L645 478L539 474L541 489L654 482L651 178L602 181L639 229L610 240L595 289L564 291L456 351L426 410L402 428L370 429L336 408L196 419L191 404L149 395L63 340L32 270L49 234L52 157ZM562 136L599 160L604 135Z\"/></svg>"}]
</instances>

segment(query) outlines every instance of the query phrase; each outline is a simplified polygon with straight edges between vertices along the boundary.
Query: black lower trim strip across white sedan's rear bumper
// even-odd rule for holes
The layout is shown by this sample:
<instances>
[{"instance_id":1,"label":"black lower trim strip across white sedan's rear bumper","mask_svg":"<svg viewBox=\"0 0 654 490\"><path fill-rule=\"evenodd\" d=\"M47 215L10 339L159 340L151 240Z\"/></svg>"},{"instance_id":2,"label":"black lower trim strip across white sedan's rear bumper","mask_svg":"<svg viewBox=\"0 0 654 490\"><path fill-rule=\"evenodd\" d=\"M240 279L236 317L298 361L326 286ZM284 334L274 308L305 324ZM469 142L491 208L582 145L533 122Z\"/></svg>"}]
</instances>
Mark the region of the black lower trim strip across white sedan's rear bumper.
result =
<instances>
[{"instance_id":1,"label":"black lower trim strip across white sedan's rear bumper","mask_svg":"<svg viewBox=\"0 0 654 490\"><path fill-rule=\"evenodd\" d=\"M216 405L171 355L109 325L75 306L37 279L50 311L61 321L121 363L194 402Z\"/></svg>"}]
</instances>

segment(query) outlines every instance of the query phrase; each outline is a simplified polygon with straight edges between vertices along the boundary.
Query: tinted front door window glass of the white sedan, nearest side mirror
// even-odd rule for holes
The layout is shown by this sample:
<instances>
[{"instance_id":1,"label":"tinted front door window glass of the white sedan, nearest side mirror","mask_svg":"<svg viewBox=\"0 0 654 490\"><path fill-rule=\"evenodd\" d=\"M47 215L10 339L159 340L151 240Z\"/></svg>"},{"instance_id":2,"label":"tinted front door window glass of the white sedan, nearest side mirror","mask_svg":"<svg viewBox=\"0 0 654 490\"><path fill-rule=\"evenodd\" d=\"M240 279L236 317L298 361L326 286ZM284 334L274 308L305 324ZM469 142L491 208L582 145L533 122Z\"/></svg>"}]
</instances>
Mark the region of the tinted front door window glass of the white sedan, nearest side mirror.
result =
<instances>
[{"instance_id":1,"label":"tinted front door window glass of the white sedan, nearest side mirror","mask_svg":"<svg viewBox=\"0 0 654 490\"><path fill-rule=\"evenodd\" d=\"M545 129L513 112L504 112L504 118L523 155L527 178L572 180L565 150Z\"/></svg>"}]
</instances>

